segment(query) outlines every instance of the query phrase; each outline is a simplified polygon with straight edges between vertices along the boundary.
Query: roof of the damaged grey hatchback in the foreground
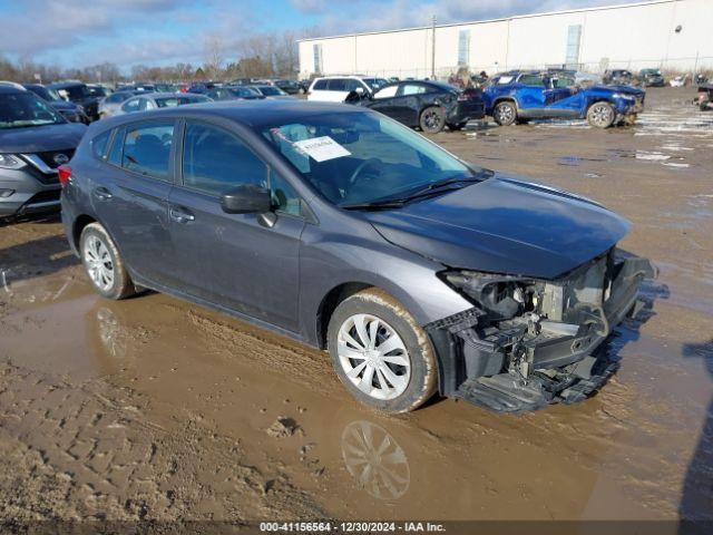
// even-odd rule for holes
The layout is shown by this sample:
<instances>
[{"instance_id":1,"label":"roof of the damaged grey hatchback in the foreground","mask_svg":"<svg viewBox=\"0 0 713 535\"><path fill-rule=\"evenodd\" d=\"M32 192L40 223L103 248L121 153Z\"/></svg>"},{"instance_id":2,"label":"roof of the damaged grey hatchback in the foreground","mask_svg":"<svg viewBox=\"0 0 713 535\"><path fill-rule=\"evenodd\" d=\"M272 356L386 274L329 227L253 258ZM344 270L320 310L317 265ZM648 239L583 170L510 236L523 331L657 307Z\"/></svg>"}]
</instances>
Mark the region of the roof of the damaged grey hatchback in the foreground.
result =
<instances>
[{"instance_id":1,"label":"roof of the damaged grey hatchback in the foreground","mask_svg":"<svg viewBox=\"0 0 713 535\"><path fill-rule=\"evenodd\" d=\"M341 103L315 103L300 99L221 100L144 111L140 117L134 114L119 115L101 123L107 126L117 126L153 117L189 116L196 118L203 116L206 118L222 117L251 128L260 128L279 123L287 124L294 120L303 120L324 114L374 114L374 111L361 106L346 106Z\"/></svg>"}]
</instances>

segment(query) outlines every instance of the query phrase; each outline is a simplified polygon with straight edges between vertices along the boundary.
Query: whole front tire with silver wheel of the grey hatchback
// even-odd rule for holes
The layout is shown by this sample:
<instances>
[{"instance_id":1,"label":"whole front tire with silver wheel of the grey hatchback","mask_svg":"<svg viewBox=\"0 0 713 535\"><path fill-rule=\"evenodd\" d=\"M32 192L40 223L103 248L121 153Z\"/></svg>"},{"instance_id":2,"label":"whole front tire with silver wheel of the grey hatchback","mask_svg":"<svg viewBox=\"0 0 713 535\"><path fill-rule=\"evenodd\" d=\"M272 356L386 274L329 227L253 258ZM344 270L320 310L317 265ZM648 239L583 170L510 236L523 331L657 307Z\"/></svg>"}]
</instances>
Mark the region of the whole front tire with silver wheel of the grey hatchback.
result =
<instances>
[{"instance_id":1,"label":"whole front tire with silver wheel of the grey hatchback","mask_svg":"<svg viewBox=\"0 0 713 535\"><path fill-rule=\"evenodd\" d=\"M360 330L367 335L365 343ZM372 334L377 342L367 354ZM379 347L387 342L388 361L379 353ZM340 380L364 405L384 412L409 412L436 391L436 354L428 335L381 290L363 290L336 307L330 319L328 347Z\"/></svg>"}]
</instances>

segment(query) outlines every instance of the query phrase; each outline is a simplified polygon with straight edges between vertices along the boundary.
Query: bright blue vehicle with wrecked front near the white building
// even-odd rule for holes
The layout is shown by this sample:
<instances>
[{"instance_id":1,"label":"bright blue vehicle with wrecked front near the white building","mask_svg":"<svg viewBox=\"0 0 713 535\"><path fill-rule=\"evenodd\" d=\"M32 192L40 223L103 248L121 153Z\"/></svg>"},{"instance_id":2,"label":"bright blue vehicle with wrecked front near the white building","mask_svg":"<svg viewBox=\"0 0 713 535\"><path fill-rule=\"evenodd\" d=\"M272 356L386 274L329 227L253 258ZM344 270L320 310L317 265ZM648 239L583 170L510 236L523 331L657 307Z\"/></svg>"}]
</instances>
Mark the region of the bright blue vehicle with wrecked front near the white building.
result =
<instances>
[{"instance_id":1,"label":"bright blue vehicle with wrecked front near the white building","mask_svg":"<svg viewBox=\"0 0 713 535\"><path fill-rule=\"evenodd\" d=\"M633 124L645 96L631 86L578 87L566 72L538 70L501 72L482 91L486 114L502 126L540 118L586 118L597 128Z\"/></svg>"}]
</instances>

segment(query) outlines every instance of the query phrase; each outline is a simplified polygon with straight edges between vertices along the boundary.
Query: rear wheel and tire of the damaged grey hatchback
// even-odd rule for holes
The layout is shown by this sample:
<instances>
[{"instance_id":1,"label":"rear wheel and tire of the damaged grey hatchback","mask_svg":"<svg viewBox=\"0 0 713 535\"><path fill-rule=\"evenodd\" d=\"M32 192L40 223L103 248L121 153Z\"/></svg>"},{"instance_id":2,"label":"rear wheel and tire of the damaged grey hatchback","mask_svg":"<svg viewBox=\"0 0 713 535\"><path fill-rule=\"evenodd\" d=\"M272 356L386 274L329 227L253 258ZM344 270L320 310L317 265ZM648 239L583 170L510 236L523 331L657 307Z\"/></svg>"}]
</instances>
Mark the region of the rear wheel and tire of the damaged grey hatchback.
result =
<instances>
[{"instance_id":1,"label":"rear wheel and tire of the damaged grey hatchback","mask_svg":"<svg viewBox=\"0 0 713 535\"><path fill-rule=\"evenodd\" d=\"M79 252L91 285L101 296L119 300L136 293L119 251L99 223L81 231Z\"/></svg>"}]
</instances>

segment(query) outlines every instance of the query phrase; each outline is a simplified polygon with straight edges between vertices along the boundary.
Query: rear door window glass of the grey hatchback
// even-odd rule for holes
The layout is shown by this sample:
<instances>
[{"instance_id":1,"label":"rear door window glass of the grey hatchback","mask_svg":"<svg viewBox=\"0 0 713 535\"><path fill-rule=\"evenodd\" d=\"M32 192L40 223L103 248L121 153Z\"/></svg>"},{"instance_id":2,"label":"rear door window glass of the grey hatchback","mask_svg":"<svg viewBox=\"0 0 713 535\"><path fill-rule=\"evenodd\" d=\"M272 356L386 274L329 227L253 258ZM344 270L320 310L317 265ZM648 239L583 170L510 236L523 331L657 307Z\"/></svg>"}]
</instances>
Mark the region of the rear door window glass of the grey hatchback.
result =
<instances>
[{"instance_id":1,"label":"rear door window glass of the grey hatchback","mask_svg":"<svg viewBox=\"0 0 713 535\"><path fill-rule=\"evenodd\" d=\"M121 167L168 182L173 139L173 121L141 123L137 126L128 126L124 138Z\"/></svg>"}]
</instances>

